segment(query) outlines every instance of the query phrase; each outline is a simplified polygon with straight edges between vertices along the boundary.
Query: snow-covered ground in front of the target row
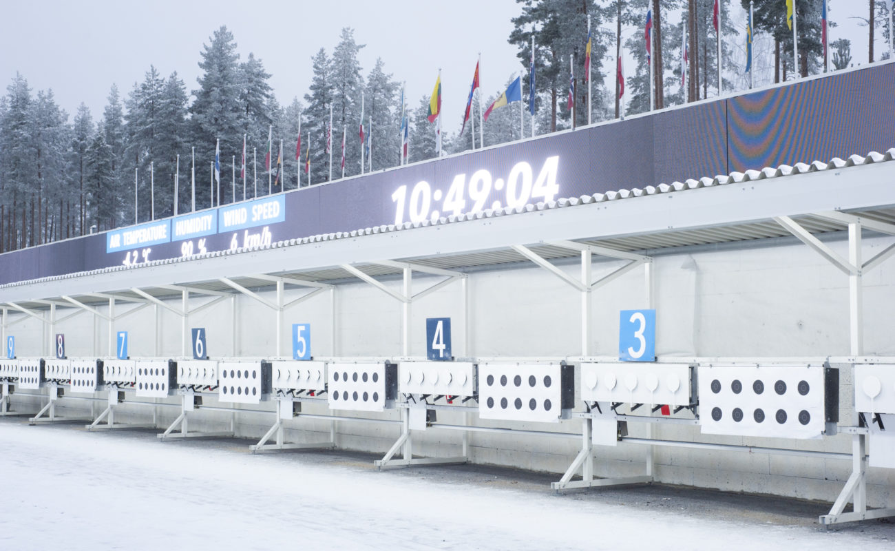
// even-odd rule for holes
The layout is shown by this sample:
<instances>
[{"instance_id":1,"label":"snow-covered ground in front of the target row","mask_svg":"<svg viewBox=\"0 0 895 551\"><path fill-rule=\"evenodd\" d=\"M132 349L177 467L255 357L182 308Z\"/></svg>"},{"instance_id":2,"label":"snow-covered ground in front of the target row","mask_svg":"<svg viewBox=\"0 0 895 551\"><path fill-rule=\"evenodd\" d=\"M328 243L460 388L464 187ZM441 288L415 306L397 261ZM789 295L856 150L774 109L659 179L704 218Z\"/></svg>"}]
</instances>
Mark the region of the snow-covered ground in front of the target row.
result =
<instances>
[{"instance_id":1,"label":"snow-covered ground in front of the target row","mask_svg":"<svg viewBox=\"0 0 895 551\"><path fill-rule=\"evenodd\" d=\"M554 495L555 477L511 469L247 450L0 418L0 549L895 548L895 524L819 527L822 504L665 486Z\"/></svg>"}]
</instances>

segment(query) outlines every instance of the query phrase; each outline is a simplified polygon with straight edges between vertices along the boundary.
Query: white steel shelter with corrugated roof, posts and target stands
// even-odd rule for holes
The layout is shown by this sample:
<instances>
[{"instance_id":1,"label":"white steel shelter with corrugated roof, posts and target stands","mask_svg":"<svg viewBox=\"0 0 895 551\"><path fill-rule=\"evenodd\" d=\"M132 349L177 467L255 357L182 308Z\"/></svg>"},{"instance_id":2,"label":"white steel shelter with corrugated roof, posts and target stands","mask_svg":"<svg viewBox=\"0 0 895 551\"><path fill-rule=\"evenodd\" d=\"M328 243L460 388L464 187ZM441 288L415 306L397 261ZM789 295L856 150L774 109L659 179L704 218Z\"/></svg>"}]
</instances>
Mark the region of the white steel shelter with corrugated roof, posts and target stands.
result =
<instances>
[{"instance_id":1,"label":"white steel shelter with corrugated roof, posts and target stands","mask_svg":"<svg viewBox=\"0 0 895 551\"><path fill-rule=\"evenodd\" d=\"M648 186L644 189L620 190L608 194L595 194L580 198L563 199L547 204L530 205L517 211L485 211L461 217L441 219L437 223L424 221L417 224L405 224L400 227L388 226L364 228L357 231L325 236L314 236L279 242L268 247L251 250L239 250L234 254L208 254L189 261L164 261L147 263L139 268L115 268L89 273L72 274L58 278L47 278L19 282L0 287L0 304L2 304L2 336L8 334L9 328L24 319L37 319L43 330L44 349L38 351L49 357L53 350L55 328L58 323L74 315L88 313L94 316L94 331L97 331L98 320L107 322L108 355L114 353L115 323L124 315L132 314L147 306L152 306L158 319L159 309L176 314L181 319L182 354L188 351L187 335L190 327L190 316L200 310L220 303L229 303L231 318L234 320L233 331L236 332L235 320L238 318L235 297L243 295L252 301L267 307L274 315L277 327L276 350L269 359L277 360L285 357L285 347L281 341L284 333L284 312L311 297L328 295L332 313L329 327L331 349L330 354L337 357L336 340L336 300L340 281L356 278L378 288L389 297L401 303L401 355L390 359L409 359L411 341L412 305L430 293L438 291L452 282L459 281L463 291L463 319L459 326L462 331L461 349L470 357L470 302L467 281L470 271L479 267L496 267L501 264L530 261L549 271L564 281L580 295L581 314L581 356L575 358L546 358L544 363L558 365L560 359L572 361L597 362L609 358L590 356L589 340L592 333L592 297L596 288L615 280L636 268L644 267L644 306L652 305L654 273L652 257L647 251L673 247L678 245L699 245L781 237L793 235L811 247L824 259L840 269L848 277L849 298L849 342L851 355L847 358L814 358L814 361L827 361L830 365L848 366L861 363L864 354L863 327L863 281L868 271L879 266L883 261L895 254L895 245L889 245L880 253L868 260L863 258L862 236L864 231L876 234L895 236L895 194L891 191L891 161L895 150L885 154L870 153L867 157L852 157L848 160L833 159L830 163L815 162L811 165L799 164L795 167L765 168L761 171L748 171L745 174L735 173L728 176L716 176L701 180L688 180L686 183ZM837 254L832 248L816 237L820 233L848 232L848 258ZM593 255L607 256L626 262L625 265L612 271L599 280L593 280ZM580 261L581 277L575 278L558 268L558 259L577 258ZM413 271L442 277L438 283L422 291L413 293ZM400 291L388 287L382 278L399 276L402 281ZM60 289L64 288L64 294ZM260 289L272 288L275 299L260 294ZM310 288L301 297L286 300L286 290ZM325 293L328 291L328 293ZM191 297L207 297L198 306L191 303ZM180 306L174 306L180 301ZM121 303L131 305L131 309L123 314L116 314L116 307ZM105 311L100 310L104 308ZM59 317L57 310L63 310ZM156 348L160 348L161 332L156 331ZM99 356L100 350L94 339L94 353ZM233 340L235 343L235 339ZM235 344L234 344L235 349ZM234 350L230 356L234 361ZM473 358L482 366L489 358ZM507 362L508 358L498 358ZM735 362L743 358L732 358ZM778 358L784 363L791 363L791 358ZM361 361L357 358L342 358L344 363ZM381 360L379 360L381 361ZM493 361L493 360L491 360ZM529 358L531 363L532 358ZM536 361L536 360L535 360ZM661 360L662 361L662 360ZM660 363L661 363L660 361ZM669 358L666 361L681 363L682 358ZM687 358L687 362L702 365L712 360L707 358ZM717 361L717 360L715 360ZM766 360L760 360L766 361ZM872 358L871 362L874 361ZM525 363L525 362L522 362ZM810 363L810 362L809 362ZM159 362L162 364L162 362ZM166 363L165 363L166 365ZM360 365L360 364L354 364ZM385 363L379 364L385 366ZM161 369L161 365L158 366ZM37 389L41 386L38 364L22 361L18 366L20 388ZM164 397L174 389L162 388L164 383L172 380L171 375L161 371L158 375L152 372L153 380L141 381L138 366L136 383L137 395L140 396L141 383L151 383L153 397ZM158 377L158 381L155 378ZM352 381L352 383L354 383ZM481 381L480 381L481 384ZM158 385L158 389L156 386ZM35 416L38 419L48 410L50 418L54 418L54 404L61 395L59 384L47 384L49 402ZM348 389L345 389L346 392ZM9 403L7 384L4 383L4 409ZM112 422L112 411L120 396L117 390L109 391L108 408L100 416L107 415L109 426ZM354 392L352 390L351 392ZM206 407L201 404L202 392L182 390L181 415L175 423L168 427L159 437L185 437L197 435L187 430L187 415L194 409L224 410L227 408ZM115 394L115 395L114 395ZM29 395L29 394L25 394ZM147 394L149 395L149 394ZM211 394L215 395L215 394ZM68 398L68 397L66 397ZM284 418L295 415L306 418L341 420L338 416L300 414L296 403L310 398L298 399L294 396L277 396L277 423L270 428L253 450L288 449L290 444L283 443L282 423ZM319 403L320 398L315 398ZM331 399L330 399L331 400ZM134 402L141 403L141 402ZM155 407L161 404L151 404ZM175 405L175 404L167 404ZM419 417L419 413L411 413L412 409L424 411L461 410L456 404L401 402L397 404L402 412L401 420L373 419L376 422L400 423L402 435L382 461L380 467L435 462L467 461L467 441L463 443L463 453L456 458L413 458L411 448L411 418ZM379 408L378 408L379 409ZM384 409L384 406L383 408ZM633 411L633 409L632 409ZM643 476L628 478L593 478L593 422L605 421L607 416L617 423L619 430L628 422L641 422L652 426L657 423L695 426L697 418L687 417L652 417L618 411L592 411L585 409L574 414L581 419L582 449L567 470L566 475L554 484L556 489L582 486L606 486L619 483L646 482L653 480L654 446L695 447L712 450L746 450L750 452L799 454L806 456L823 456L835 459L848 459L853 462L852 475L843 489L840 498L831 509L831 513L821 518L823 524L839 521L854 521L878 518L895 514L893 509L868 510L866 508L866 437L868 428L862 426L855 412L848 426L840 426L840 431L852 435L851 454L833 452L810 452L785 448L759 448L755 446L728 445L720 443L695 443L683 441L656 440L650 435L644 438L628 437L621 431L618 438L622 442L647 444L649 452L646 457L646 468ZM517 435L541 435L567 438L567 433L533 431L500 426L462 426L438 424L429 420L423 413L422 426L438 426L446 430L469 432L491 432ZM93 425L98 423L97 418ZM362 419L352 419L362 422ZM173 433L175 426L181 427L180 435ZM420 426L416 424L415 426ZM233 435L231 430L223 433L199 433L198 435ZM277 435L277 444L272 447L264 443L268 438ZM336 430L331 428L330 442L321 443L323 447L335 445ZM574 436L574 435L573 435ZM577 436L575 436L577 437ZM308 447L295 444L294 447ZM392 457L403 449L404 460L393 460ZM575 472L581 469L583 479L572 480ZM854 503L853 512L844 512L849 501Z\"/></svg>"}]
</instances>

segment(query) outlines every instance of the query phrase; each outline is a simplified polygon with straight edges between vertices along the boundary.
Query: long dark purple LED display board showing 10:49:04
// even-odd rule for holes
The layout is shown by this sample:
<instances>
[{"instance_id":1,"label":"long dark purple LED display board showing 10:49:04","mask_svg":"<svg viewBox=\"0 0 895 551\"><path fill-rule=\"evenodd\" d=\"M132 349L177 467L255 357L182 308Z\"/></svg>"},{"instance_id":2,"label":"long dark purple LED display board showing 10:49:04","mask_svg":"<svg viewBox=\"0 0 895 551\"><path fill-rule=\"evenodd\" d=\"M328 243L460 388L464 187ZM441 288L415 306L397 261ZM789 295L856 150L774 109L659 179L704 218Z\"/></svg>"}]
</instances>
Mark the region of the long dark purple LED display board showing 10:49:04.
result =
<instances>
[{"instance_id":1,"label":"long dark purple LED display board showing 10:49:04","mask_svg":"<svg viewBox=\"0 0 895 551\"><path fill-rule=\"evenodd\" d=\"M895 147L892 90L895 65L876 65L314 185L288 192L286 220L263 229L279 241L539 202L534 182L544 175L552 187L541 192L556 199L886 151ZM202 239L210 252L242 236ZM183 244L152 245L149 260L178 258ZM0 284L117 266L125 255L107 254L105 234L2 254Z\"/></svg>"}]
</instances>

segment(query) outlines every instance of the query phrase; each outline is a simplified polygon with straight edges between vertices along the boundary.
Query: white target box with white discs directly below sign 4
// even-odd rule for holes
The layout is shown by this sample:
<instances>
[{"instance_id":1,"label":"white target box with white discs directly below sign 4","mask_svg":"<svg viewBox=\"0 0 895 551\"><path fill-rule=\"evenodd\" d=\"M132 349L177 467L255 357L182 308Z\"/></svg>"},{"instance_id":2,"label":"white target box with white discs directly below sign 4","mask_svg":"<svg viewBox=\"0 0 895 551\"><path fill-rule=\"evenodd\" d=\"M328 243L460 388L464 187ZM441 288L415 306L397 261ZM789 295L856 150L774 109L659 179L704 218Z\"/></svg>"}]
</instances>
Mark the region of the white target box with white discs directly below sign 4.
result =
<instances>
[{"instance_id":1,"label":"white target box with white discs directly below sign 4","mask_svg":"<svg viewBox=\"0 0 895 551\"><path fill-rule=\"evenodd\" d=\"M472 362L400 362L397 390L403 394L475 395Z\"/></svg>"}]
</instances>

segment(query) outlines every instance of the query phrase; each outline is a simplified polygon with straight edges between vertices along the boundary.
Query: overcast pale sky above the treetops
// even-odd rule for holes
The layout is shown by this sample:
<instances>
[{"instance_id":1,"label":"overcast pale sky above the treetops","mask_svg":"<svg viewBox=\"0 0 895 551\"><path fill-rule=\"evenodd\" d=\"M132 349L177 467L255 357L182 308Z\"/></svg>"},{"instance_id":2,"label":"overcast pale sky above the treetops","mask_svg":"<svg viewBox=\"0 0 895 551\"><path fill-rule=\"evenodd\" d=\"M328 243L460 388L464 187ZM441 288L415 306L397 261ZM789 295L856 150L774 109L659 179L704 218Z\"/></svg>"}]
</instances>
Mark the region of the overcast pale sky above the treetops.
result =
<instances>
[{"instance_id":1,"label":"overcast pale sky above the treetops","mask_svg":"<svg viewBox=\"0 0 895 551\"><path fill-rule=\"evenodd\" d=\"M831 18L840 22L831 39L851 39L856 65L864 63L867 29L848 16L866 17L867 2L829 1ZM308 90L311 56L320 47L331 53L340 30L352 27L366 45L364 75L382 57L386 71L406 81L413 107L430 93L440 67L444 124L456 131L480 52L488 95L523 69L507 43L520 11L516 0L9 0L0 19L0 84L5 88L18 71L32 90L51 88L69 114L83 101L97 120L112 83L126 96L149 65L164 76L177 71L187 90L195 89L202 44L226 24L241 58L260 57L277 99L287 104ZM886 49L878 31L876 58Z\"/></svg>"}]
</instances>

